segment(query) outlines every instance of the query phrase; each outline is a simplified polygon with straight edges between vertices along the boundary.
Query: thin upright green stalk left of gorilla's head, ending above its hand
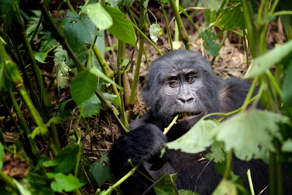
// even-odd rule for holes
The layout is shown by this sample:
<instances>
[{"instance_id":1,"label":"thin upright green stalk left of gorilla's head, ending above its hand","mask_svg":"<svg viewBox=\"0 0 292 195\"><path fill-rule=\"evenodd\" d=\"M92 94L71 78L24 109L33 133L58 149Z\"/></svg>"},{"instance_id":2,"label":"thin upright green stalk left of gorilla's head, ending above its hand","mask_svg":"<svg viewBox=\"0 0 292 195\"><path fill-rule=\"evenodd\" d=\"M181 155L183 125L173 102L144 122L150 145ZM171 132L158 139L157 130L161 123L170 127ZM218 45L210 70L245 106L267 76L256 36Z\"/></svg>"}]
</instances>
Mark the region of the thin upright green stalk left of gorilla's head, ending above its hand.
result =
<instances>
[{"instance_id":1,"label":"thin upright green stalk left of gorilla's head, ending above its hand","mask_svg":"<svg viewBox=\"0 0 292 195\"><path fill-rule=\"evenodd\" d=\"M125 47L126 45L122 44L122 41L119 40L118 43L118 56L117 56L117 67L118 67L118 79L119 79L119 85L122 88L122 78L121 78L121 63L122 63L122 58L121 58L121 49L123 47L123 50L125 51ZM124 59L123 59L124 61ZM120 90L120 97L121 97L121 117L122 117L122 121L123 124L126 126L126 128L129 128L129 124L128 124L128 119L126 117L126 113L125 113L125 105L124 105L124 98L123 98L123 90Z\"/></svg>"}]
</instances>

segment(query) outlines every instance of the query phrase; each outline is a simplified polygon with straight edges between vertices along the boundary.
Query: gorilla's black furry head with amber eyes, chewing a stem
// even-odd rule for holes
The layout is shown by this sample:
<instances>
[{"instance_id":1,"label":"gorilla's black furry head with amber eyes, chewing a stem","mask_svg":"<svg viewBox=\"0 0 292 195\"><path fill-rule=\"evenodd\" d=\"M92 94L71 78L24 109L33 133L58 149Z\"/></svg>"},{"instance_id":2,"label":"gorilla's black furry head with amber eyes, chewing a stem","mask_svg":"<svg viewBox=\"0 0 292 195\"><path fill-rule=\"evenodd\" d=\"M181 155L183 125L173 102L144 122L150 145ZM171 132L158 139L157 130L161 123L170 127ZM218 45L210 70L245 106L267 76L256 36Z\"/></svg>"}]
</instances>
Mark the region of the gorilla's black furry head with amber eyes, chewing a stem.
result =
<instances>
[{"instance_id":1,"label":"gorilla's black furry head with amber eyes, chewing a stem","mask_svg":"<svg viewBox=\"0 0 292 195\"><path fill-rule=\"evenodd\" d=\"M220 84L200 54L179 50L152 62L143 98L165 126L180 114L177 123L185 133L204 115L219 111Z\"/></svg>"}]
</instances>

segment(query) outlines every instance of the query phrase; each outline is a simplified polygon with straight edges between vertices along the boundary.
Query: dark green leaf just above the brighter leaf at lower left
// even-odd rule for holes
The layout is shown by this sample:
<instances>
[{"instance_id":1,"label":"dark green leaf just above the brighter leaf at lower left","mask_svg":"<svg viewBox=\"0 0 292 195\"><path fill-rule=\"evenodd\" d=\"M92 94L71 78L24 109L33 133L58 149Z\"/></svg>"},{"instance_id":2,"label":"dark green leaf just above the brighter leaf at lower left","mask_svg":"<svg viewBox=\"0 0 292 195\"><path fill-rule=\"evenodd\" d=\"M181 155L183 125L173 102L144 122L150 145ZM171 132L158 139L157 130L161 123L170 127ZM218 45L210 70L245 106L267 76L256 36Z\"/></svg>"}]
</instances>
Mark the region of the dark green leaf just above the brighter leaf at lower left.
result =
<instances>
[{"instance_id":1,"label":"dark green leaf just above the brighter leaf at lower left","mask_svg":"<svg viewBox=\"0 0 292 195\"><path fill-rule=\"evenodd\" d=\"M52 172L68 173L75 166L79 151L80 146L78 144L71 144L63 148L53 159L58 164L52 169ZM55 164L55 162L51 163L51 165Z\"/></svg>"}]
</instances>

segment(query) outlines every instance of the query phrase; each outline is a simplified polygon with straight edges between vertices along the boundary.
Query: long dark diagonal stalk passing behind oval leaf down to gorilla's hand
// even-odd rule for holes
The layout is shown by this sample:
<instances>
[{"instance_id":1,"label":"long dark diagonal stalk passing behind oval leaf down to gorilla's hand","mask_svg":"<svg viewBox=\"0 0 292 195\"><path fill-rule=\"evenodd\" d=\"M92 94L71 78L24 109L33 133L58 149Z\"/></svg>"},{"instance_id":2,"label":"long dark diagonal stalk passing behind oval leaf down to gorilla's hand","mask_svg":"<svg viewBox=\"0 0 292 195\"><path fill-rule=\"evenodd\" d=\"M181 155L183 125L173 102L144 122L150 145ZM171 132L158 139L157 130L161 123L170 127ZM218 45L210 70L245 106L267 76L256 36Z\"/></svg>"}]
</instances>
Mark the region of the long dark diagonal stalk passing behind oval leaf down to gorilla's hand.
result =
<instances>
[{"instance_id":1,"label":"long dark diagonal stalk passing behind oval leaf down to gorilla's hand","mask_svg":"<svg viewBox=\"0 0 292 195\"><path fill-rule=\"evenodd\" d=\"M51 26L51 30L55 36L55 39L61 43L61 45L64 47L64 49L67 51L70 58L73 60L75 66L77 67L77 71L81 72L84 70L84 66L82 63L77 59L76 55L73 53L73 50L69 46L66 37L62 33L62 31L58 28L55 21L49 14L46 6L44 5L43 1L40 1L39 3L39 9L41 10L42 14L44 15L44 19L48 22L48 24ZM93 47L94 49L94 47ZM101 105L105 111L107 111L110 115L112 115L113 119L117 123L117 125L121 128L123 132L128 132L128 129L123 125L123 123L120 121L119 117L114 114L113 112L113 106L112 104L102 95L99 89L96 88L95 95L97 98L99 98Z\"/></svg>"}]
</instances>

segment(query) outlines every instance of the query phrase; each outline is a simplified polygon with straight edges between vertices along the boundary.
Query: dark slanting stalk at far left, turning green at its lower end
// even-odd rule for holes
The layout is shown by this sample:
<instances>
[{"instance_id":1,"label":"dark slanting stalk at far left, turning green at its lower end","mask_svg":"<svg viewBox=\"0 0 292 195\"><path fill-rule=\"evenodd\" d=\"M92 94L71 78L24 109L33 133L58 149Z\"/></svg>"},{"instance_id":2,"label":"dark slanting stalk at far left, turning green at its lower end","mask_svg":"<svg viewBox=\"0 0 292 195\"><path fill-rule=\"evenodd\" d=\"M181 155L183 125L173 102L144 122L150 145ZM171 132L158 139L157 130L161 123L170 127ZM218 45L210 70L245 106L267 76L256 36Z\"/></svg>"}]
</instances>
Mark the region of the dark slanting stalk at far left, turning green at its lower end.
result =
<instances>
[{"instance_id":1,"label":"dark slanting stalk at far left, turning green at its lower end","mask_svg":"<svg viewBox=\"0 0 292 195\"><path fill-rule=\"evenodd\" d=\"M30 137L30 135L31 135L30 129L28 128L28 126L26 124L26 120L24 119L24 117L21 113L21 110L18 106L18 103L17 103L14 95L12 94L11 90L9 90L9 97L12 101L12 104L13 104L15 110L16 110L21 129L24 132L24 139L25 139L25 142L28 144L28 147L30 150L29 153L31 153L30 156L34 159L35 162L37 162L36 160L37 160L37 155L39 155L39 149L37 148L37 144L34 141L34 139L32 139ZM17 123L16 123L16 125L18 126ZM19 128L19 126L18 126L18 128Z\"/></svg>"}]
</instances>

